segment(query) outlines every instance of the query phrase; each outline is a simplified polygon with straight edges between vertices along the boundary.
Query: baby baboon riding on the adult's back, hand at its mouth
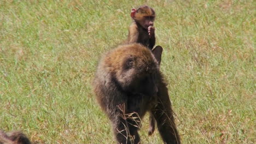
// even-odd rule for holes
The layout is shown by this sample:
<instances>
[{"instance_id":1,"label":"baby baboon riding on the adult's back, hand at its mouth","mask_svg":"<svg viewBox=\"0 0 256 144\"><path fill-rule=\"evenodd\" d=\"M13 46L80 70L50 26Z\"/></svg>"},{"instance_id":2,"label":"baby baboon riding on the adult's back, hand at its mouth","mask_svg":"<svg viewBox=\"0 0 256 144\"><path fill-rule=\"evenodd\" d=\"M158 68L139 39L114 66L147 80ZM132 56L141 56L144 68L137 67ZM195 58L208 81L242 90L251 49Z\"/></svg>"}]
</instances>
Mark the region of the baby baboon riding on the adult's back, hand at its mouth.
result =
<instances>
[{"instance_id":1,"label":"baby baboon riding on the adult's back, hand at its mouth","mask_svg":"<svg viewBox=\"0 0 256 144\"><path fill-rule=\"evenodd\" d=\"M131 10L132 23L126 43L139 43L150 50L155 45L155 11L147 5Z\"/></svg>"}]
</instances>

